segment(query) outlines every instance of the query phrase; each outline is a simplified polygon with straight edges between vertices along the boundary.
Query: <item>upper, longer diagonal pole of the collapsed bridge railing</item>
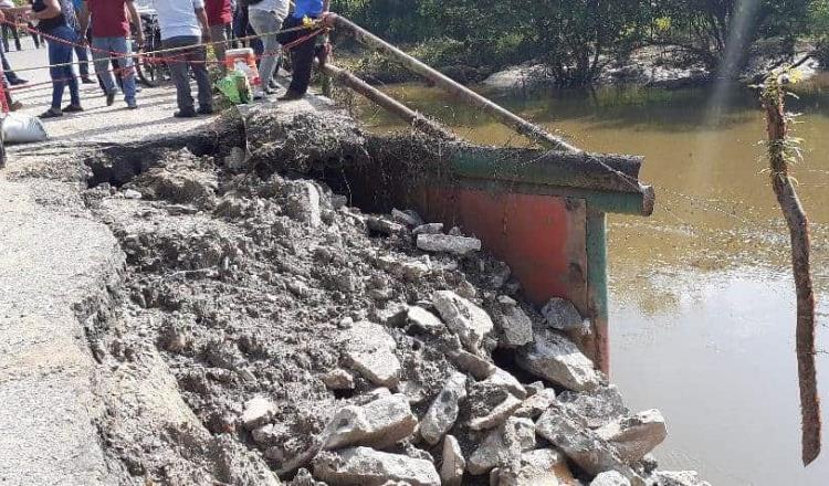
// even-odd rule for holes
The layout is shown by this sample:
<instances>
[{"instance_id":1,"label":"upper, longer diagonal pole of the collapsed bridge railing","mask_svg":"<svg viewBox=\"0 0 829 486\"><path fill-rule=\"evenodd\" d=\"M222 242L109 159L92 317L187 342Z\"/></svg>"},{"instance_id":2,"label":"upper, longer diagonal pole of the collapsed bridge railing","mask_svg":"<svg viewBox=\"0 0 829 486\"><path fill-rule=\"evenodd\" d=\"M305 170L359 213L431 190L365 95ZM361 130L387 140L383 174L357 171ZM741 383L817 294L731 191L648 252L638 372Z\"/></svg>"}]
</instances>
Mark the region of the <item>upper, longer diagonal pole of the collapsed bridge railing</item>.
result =
<instances>
[{"instance_id":1,"label":"upper, longer diagonal pole of the collapsed bridge railing","mask_svg":"<svg viewBox=\"0 0 829 486\"><path fill-rule=\"evenodd\" d=\"M455 83L454 81L450 80L448 76L429 67L428 65L410 56L409 54L400 51L399 49L395 47L393 45L378 38L377 35L368 32L367 30L363 29L361 27L357 25L350 20L340 15L335 15L335 14L330 14L329 19L330 19L329 21L332 21L334 25L354 35L354 38L361 44L370 49L374 49L375 51L381 52L388 56L393 57L395 60L400 62L406 68L412 71L413 73L420 76L426 77L427 80L431 81L438 87L451 94L455 98L461 99L476 108L480 108L484 113L495 117L499 122L513 128L520 135L523 135L548 149L563 150L563 151L575 152L575 154L581 152L580 149L568 144L560 137L556 137L555 135L549 134L544 128L525 120L524 118L515 115L508 109L479 95L472 89L461 84Z\"/></svg>"}]
</instances>

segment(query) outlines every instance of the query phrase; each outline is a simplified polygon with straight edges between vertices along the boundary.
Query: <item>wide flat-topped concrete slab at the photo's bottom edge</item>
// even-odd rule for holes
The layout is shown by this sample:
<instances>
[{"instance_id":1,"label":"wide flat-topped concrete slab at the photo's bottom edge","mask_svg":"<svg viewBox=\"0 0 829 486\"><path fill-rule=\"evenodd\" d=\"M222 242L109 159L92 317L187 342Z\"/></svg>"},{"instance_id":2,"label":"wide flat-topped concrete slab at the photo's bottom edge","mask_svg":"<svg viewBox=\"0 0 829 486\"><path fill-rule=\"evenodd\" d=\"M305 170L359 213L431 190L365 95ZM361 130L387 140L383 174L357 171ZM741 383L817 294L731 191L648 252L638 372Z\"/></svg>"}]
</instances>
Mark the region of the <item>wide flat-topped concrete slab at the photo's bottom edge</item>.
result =
<instances>
[{"instance_id":1,"label":"wide flat-topped concrete slab at the photo's bottom edge","mask_svg":"<svg viewBox=\"0 0 829 486\"><path fill-rule=\"evenodd\" d=\"M440 486L440 475L431 462L369 447L321 454L314 461L314 477L330 486L382 486L389 482Z\"/></svg>"}]
</instances>

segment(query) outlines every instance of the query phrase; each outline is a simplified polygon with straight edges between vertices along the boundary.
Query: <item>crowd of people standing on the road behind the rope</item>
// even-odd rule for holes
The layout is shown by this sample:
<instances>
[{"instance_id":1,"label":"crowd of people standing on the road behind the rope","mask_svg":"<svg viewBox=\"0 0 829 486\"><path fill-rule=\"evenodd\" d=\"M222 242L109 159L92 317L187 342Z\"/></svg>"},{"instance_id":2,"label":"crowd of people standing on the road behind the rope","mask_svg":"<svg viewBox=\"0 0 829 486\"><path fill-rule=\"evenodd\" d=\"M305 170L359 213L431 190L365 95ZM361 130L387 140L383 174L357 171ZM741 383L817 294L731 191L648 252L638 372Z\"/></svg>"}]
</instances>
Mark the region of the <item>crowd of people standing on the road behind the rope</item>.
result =
<instances>
[{"instance_id":1,"label":"crowd of people standing on the road behind the rope","mask_svg":"<svg viewBox=\"0 0 829 486\"><path fill-rule=\"evenodd\" d=\"M33 36L42 35L45 40L52 103L41 118L83 112L80 84L96 83L90 77L90 51L107 106L115 103L120 89L126 107L138 108L132 54L134 43L141 46L145 39L136 1L156 11L162 55L168 59L170 77L176 85L176 117L213 113L208 75L208 63L212 62L208 61L209 45L222 70L225 51L234 39L245 39L253 47L262 80L254 91L254 99L274 94L273 77L281 64L283 45L292 45L293 74L281 101L298 99L306 94L315 55L324 56L328 52L327 46L318 49L313 40L302 39L304 31L295 28L307 25L308 21L325 22L330 0L296 0L293 11L290 0L28 0L22 7L11 0L0 0L0 22L4 31L12 28L17 33L18 25L23 24ZM3 51L0 49L7 103L11 109L17 109L20 104L11 99L8 88L27 81L17 76ZM117 67L111 68L111 63ZM198 88L198 107L190 88L191 75ZM70 102L64 106L66 88Z\"/></svg>"}]
</instances>

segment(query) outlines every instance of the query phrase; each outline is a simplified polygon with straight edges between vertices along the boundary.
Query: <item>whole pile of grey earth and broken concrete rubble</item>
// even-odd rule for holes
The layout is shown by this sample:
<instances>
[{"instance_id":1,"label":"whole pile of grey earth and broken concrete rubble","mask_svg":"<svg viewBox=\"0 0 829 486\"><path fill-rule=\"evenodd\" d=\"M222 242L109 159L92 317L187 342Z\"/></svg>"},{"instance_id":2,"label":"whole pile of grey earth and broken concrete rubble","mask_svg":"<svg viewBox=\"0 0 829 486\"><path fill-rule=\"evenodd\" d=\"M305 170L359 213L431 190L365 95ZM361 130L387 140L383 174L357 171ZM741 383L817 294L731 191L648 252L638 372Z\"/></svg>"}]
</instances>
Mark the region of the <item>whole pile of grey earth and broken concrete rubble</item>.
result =
<instances>
[{"instance_id":1,"label":"whole pile of grey earth and broken concrete rubble","mask_svg":"<svg viewBox=\"0 0 829 486\"><path fill-rule=\"evenodd\" d=\"M85 199L127 255L88 330L125 485L706 484L657 471L665 422L574 345L576 308L457 228L186 150Z\"/></svg>"}]
</instances>

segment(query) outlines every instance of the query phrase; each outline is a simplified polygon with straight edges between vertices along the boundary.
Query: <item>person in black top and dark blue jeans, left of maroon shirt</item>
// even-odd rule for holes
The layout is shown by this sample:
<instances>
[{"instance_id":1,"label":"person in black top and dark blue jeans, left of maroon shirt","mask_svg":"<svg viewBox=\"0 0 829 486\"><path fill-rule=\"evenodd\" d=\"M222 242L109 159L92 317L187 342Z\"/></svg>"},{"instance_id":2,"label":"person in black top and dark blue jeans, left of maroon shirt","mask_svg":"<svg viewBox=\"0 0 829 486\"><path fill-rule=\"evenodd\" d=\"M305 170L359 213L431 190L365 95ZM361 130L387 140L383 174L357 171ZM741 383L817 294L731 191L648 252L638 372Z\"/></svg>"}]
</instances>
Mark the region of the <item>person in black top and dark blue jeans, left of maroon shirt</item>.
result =
<instances>
[{"instance_id":1,"label":"person in black top and dark blue jeans, left of maroon shirt","mask_svg":"<svg viewBox=\"0 0 829 486\"><path fill-rule=\"evenodd\" d=\"M72 71L72 52L80 39L66 20L60 0L32 0L30 18L38 22L38 30L43 32L49 43L49 68L52 76L52 106L41 118L54 118L64 113L83 112L77 78ZM61 108L63 88L69 86L71 102Z\"/></svg>"}]
</instances>

